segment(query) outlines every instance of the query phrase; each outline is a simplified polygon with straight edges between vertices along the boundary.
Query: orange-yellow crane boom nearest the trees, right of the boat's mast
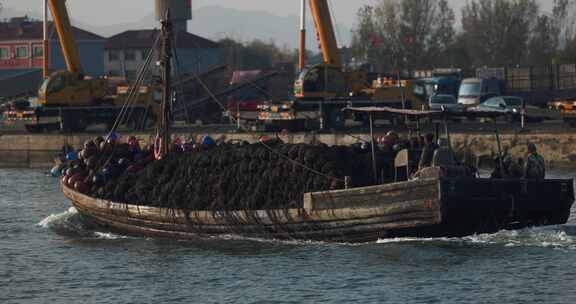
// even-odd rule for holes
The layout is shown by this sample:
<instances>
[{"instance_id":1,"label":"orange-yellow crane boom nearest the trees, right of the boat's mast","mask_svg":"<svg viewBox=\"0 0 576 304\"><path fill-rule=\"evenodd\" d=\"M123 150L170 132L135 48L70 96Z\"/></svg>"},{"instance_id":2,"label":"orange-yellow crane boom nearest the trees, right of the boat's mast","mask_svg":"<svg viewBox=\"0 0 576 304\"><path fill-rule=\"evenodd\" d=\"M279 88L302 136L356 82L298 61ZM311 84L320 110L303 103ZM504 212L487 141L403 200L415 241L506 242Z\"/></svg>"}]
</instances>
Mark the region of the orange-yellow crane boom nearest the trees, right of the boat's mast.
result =
<instances>
[{"instance_id":1,"label":"orange-yellow crane boom nearest the trees, right of the boat's mast","mask_svg":"<svg viewBox=\"0 0 576 304\"><path fill-rule=\"evenodd\" d=\"M324 63L337 67L342 66L328 0L310 0L310 9L314 17L314 26L316 27Z\"/></svg>"}]
</instances>

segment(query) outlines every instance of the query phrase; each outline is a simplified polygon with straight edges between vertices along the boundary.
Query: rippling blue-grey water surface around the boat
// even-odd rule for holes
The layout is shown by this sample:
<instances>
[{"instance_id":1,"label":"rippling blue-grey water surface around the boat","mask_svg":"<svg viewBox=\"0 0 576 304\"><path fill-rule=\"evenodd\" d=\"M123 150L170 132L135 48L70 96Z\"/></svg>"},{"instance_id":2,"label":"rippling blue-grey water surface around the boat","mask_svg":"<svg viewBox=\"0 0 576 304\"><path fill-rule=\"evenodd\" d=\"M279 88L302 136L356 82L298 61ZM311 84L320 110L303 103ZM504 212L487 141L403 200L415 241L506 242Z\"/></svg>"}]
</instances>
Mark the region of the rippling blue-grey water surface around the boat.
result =
<instances>
[{"instance_id":1,"label":"rippling blue-grey water surface around the boat","mask_svg":"<svg viewBox=\"0 0 576 304\"><path fill-rule=\"evenodd\" d=\"M362 245L175 242L92 231L70 206L43 172L0 170L0 303L576 303L576 235L555 226Z\"/></svg>"}]
</instances>

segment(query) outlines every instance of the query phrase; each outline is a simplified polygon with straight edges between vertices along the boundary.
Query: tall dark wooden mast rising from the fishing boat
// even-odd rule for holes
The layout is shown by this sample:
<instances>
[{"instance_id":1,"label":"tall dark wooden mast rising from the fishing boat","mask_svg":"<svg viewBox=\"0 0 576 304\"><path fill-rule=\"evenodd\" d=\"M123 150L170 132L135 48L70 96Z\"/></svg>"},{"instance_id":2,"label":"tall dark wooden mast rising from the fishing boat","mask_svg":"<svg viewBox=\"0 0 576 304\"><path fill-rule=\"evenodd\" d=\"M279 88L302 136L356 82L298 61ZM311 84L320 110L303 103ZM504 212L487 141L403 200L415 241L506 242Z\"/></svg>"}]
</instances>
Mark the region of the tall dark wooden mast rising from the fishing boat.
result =
<instances>
[{"instance_id":1,"label":"tall dark wooden mast rising from the fishing boat","mask_svg":"<svg viewBox=\"0 0 576 304\"><path fill-rule=\"evenodd\" d=\"M170 20L170 11L166 10L162 19L161 39L162 47L160 50L160 71L162 76L162 104L160 106L160 118L156 131L155 156L156 159L164 158L170 153L170 125L171 125L171 106L172 106L172 21Z\"/></svg>"}]
</instances>

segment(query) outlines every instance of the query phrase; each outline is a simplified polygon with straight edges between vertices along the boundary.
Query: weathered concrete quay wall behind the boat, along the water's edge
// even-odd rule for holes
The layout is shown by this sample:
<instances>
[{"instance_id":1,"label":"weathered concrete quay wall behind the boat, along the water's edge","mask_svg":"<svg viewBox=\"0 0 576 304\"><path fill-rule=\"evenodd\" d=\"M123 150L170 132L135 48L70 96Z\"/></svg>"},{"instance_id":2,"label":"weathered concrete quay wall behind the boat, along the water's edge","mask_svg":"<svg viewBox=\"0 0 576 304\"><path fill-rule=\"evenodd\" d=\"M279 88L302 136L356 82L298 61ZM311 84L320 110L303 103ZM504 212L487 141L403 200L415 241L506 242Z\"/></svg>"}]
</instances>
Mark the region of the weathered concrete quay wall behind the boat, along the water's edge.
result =
<instances>
[{"instance_id":1,"label":"weathered concrete quay wall behind the boat, along the water's edge","mask_svg":"<svg viewBox=\"0 0 576 304\"><path fill-rule=\"evenodd\" d=\"M134 134L144 142L150 140L150 134ZM181 138L199 138L203 134L178 134ZM208 134L214 138L224 136L228 140L246 140L255 142L260 135L255 134ZM270 136L270 135L267 135ZM0 135L0 167L16 168L49 168L54 157L64 145L79 148L84 141L93 138L92 134L19 134ZM367 134L310 134L295 133L280 135L287 143L322 142L328 145L349 145L368 140ZM451 134L453 146L457 150L469 148L477 156L496 155L498 148L494 134L454 133ZM515 133L500 136L502 147L509 149L514 156L526 154L526 144L532 142L538 146L540 153L552 167L576 168L576 133Z\"/></svg>"}]
</instances>

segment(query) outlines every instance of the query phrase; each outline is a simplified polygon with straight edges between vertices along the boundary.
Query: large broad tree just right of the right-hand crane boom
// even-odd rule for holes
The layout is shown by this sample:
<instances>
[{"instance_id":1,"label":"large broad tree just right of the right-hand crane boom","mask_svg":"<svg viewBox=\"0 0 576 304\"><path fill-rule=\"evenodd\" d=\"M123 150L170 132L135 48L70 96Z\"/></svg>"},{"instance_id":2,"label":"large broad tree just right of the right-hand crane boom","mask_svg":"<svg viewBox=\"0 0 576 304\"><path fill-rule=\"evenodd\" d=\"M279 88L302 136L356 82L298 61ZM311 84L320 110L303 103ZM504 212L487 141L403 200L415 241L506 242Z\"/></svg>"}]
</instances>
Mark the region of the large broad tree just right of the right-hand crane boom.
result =
<instances>
[{"instance_id":1,"label":"large broad tree just right of the right-hand crane boom","mask_svg":"<svg viewBox=\"0 0 576 304\"><path fill-rule=\"evenodd\" d=\"M446 0L380 0L358 12L353 50L387 68L428 67L446 55L454 22Z\"/></svg>"}]
</instances>

